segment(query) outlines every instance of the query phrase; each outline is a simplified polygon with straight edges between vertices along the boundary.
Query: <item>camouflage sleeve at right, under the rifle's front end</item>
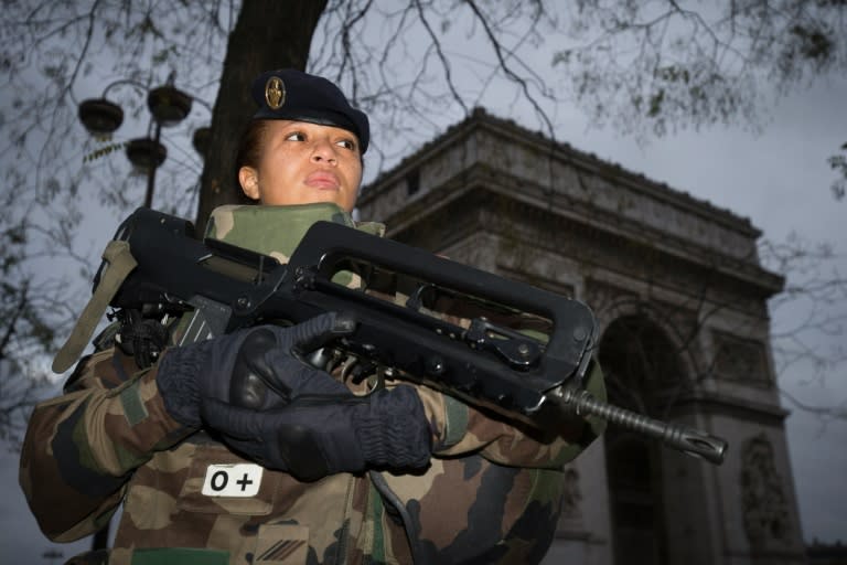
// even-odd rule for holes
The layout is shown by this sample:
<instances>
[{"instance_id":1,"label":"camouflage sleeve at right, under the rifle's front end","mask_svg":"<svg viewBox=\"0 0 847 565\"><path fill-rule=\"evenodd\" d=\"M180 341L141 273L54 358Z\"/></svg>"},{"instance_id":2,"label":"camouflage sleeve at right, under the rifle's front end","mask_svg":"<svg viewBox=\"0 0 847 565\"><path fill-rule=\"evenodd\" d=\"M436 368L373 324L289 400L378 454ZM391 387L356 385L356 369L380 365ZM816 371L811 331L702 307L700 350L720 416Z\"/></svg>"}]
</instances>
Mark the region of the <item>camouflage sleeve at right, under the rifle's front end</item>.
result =
<instances>
[{"instance_id":1,"label":"camouflage sleeve at right, under the rifle's front end","mask_svg":"<svg viewBox=\"0 0 847 565\"><path fill-rule=\"evenodd\" d=\"M603 373L593 363L586 388L605 399ZM539 439L537 434L507 420L492 417L431 388L418 387L430 427L436 456L479 452L490 461L515 466L558 469L577 457L600 436L605 423L588 417L575 420L567 429Z\"/></svg>"}]
</instances>

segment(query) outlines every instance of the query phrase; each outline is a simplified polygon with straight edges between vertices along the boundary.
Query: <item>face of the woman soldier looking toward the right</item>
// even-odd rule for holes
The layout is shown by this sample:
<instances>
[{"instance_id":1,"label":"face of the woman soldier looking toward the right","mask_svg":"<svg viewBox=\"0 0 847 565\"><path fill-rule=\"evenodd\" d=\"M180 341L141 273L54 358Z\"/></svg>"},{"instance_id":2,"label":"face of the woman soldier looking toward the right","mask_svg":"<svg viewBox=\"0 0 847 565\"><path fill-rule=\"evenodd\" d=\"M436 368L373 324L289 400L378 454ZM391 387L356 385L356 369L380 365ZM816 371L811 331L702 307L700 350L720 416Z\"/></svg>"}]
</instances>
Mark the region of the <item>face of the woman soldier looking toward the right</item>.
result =
<instances>
[{"instance_id":1,"label":"face of the woman soldier looking toward the right","mask_svg":"<svg viewBox=\"0 0 847 565\"><path fill-rule=\"evenodd\" d=\"M270 120L258 167L242 167L238 181L262 204L333 202L351 212L362 182L358 139L332 126Z\"/></svg>"}]
</instances>

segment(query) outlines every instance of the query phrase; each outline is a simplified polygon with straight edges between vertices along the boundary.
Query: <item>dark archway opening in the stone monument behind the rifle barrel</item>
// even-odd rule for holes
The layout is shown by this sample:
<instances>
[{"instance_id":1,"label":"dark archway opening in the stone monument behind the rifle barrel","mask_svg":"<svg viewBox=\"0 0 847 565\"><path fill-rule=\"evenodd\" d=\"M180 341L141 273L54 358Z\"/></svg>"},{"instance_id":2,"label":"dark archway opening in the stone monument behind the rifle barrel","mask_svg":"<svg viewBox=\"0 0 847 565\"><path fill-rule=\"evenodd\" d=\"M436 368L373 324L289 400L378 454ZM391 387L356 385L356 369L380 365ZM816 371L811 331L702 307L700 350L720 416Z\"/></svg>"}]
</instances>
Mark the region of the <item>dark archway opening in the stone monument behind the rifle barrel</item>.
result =
<instances>
[{"instance_id":1,"label":"dark archway opening in the stone monument behind the rifle barrel","mask_svg":"<svg viewBox=\"0 0 847 565\"><path fill-rule=\"evenodd\" d=\"M668 333L647 315L630 310L603 331L598 359L607 376L609 401L663 417L668 395L685 379ZM639 434L610 427L604 437L614 562L668 563L663 448Z\"/></svg>"}]
</instances>

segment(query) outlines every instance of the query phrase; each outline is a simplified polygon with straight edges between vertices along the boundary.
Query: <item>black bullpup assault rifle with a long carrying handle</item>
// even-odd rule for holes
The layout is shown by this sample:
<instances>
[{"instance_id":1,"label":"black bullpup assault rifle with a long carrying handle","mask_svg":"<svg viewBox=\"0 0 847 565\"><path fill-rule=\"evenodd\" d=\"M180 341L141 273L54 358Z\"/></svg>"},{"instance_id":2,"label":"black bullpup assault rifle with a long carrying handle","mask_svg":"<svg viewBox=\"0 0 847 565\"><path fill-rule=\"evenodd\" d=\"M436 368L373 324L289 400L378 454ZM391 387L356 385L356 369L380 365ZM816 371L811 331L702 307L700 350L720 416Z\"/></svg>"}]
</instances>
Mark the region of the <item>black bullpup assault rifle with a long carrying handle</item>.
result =
<instances>
[{"instance_id":1,"label":"black bullpup assault rifle with a long carrying handle","mask_svg":"<svg viewBox=\"0 0 847 565\"><path fill-rule=\"evenodd\" d=\"M111 285L109 306L119 311L187 315L180 343L343 312L355 330L332 347L361 360L363 372L433 386L542 430L594 415L712 463L723 460L721 438L585 391L596 322L578 300L332 222L313 224L287 264L217 239L201 242L189 221L143 207L118 227L116 242L128 244L136 265L125 266L118 282L105 280L115 265L104 255L95 297ZM340 284L344 274L355 274L364 288ZM395 290L390 299L384 288ZM394 298L396 289L403 300ZM435 313L444 303L461 316Z\"/></svg>"}]
</instances>

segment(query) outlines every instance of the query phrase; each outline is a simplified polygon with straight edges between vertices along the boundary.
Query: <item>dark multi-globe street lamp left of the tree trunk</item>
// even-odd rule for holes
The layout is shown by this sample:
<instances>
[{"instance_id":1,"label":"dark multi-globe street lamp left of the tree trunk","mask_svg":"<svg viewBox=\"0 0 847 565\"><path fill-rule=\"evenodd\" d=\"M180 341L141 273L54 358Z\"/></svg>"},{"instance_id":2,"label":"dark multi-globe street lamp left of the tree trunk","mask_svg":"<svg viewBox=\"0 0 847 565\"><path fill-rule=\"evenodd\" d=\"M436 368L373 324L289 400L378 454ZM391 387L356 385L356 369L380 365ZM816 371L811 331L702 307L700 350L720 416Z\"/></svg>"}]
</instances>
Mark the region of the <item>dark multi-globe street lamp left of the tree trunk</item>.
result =
<instances>
[{"instance_id":1,"label":"dark multi-globe street lamp left of the tree trunk","mask_svg":"<svg viewBox=\"0 0 847 565\"><path fill-rule=\"evenodd\" d=\"M131 79L116 81L108 85L99 98L89 98L79 104L79 120L94 136L112 134L124 122L124 110L116 103L106 98L110 88L119 84L132 84L147 89L140 83ZM163 127L172 127L180 124L191 113L194 98L173 86L173 74L168 84L148 90L147 107L152 115L151 126L153 136L136 138L127 143L127 158L139 170L147 171L147 194L144 206L152 207L153 190L156 185L156 170L168 157L168 149L161 143L161 130ZM208 128L201 128L194 134L193 143L201 154L205 154L205 146L208 140ZM202 149L201 149L202 148Z\"/></svg>"}]
</instances>

